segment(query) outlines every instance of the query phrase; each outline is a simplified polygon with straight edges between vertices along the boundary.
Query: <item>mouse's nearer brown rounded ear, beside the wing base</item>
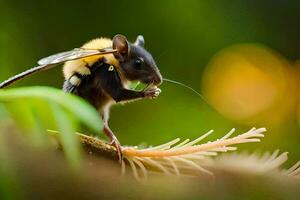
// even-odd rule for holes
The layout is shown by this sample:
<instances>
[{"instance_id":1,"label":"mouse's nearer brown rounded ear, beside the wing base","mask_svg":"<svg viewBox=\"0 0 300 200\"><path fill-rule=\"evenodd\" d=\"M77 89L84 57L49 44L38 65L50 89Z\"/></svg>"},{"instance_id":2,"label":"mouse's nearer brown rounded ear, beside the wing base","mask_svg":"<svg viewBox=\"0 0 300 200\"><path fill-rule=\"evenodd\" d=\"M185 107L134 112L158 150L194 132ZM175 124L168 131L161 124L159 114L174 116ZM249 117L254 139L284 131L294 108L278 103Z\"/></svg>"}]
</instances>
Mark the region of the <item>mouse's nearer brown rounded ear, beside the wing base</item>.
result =
<instances>
[{"instance_id":1,"label":"mouse's nearer brown rounded ear, beside the wing base","mask_svg":"<svg viewBox=\"0 0 300 200\"><path fill-rule=\"evenodd\" d=\"M114 56L120 61L124 61L130 50L127 38L124 35L117 34L114 36L112 43L113 49L118 51L116 54L114 54Z\"/></svg>"}]
</instances>

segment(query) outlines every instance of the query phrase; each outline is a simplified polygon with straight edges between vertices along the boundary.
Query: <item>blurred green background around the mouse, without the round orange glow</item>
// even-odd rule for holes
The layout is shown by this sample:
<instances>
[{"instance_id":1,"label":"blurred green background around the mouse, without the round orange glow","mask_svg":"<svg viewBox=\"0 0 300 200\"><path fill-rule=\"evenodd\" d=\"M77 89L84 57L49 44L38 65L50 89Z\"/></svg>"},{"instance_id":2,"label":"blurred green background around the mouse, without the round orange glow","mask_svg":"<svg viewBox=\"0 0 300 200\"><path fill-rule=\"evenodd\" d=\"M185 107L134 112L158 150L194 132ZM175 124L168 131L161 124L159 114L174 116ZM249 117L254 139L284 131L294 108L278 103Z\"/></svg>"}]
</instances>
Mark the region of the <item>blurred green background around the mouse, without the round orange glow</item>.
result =
<instances>
[{"instance_id":1,"label":"blurred green background around the mouse, without the round orange glow","mask_svg":"<svg viewBox=\"0 0 300 200\"><path fill-rule=\"evenodd\" d=\"M298 1L14 1L0 2L0 78L36 65L38 59L117 33L134 41L145 37L164 77L200 91L202 73L219 50L238 43L261 43L291 62L300 49ZM60 88L61 67L41 72L14 87ZM218 114L190 91L164 83L155 101L114 106L111 128L122 144L164 143L176 137L195 138L210 129L211 140L231 128L251 128ZM296 118L267 127L262 144L253 149L289 151L300 157Z\"/></svg>"}]
</instances>

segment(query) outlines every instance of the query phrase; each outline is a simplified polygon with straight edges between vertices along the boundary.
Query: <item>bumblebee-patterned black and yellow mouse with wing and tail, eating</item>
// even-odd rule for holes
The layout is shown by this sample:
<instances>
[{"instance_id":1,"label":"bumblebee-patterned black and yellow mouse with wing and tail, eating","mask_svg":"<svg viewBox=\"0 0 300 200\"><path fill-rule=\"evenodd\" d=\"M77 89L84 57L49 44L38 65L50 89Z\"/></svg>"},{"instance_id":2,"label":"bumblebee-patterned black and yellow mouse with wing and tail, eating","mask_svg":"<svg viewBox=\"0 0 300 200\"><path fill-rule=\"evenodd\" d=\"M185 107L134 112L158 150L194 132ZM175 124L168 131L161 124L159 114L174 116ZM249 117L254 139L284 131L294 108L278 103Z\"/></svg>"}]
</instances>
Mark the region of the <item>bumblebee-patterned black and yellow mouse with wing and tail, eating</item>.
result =
<instances>
[{"instance_id":1,"label":"bumblebee-patterned black and yellow mouse with wing and tail, eating","mask_svg":"<svg viewBox=\"0 0 300 200\"><path fill-rule=\"evenodd\" d=\"M156 98L161 90L162 76L152 57L144 48L144 37L139 35L134 43L123 35L112 40L97 38L81 48L66 51L41 59L40 66L20 73L0 84L0 88L38 71L64 63L65 82L63 90L87 100L100 113L103 132L117 149L122 159L121 145L108 125L110 107L119 102L144 98ZM128 88L130 81L147 84L143 91Z\"/></svg>"}]
</instances>

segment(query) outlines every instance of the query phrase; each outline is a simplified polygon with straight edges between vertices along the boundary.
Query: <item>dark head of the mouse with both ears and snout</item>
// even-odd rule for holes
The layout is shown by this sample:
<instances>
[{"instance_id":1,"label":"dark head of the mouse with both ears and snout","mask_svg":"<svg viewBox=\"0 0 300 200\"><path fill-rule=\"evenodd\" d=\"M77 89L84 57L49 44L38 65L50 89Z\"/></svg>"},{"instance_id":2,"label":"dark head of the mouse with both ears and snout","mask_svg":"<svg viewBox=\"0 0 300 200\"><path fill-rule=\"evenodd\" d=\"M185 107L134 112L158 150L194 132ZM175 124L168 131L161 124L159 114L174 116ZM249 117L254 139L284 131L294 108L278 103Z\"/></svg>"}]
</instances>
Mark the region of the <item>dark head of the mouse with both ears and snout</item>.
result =
<instances>
[{"instance_id":1,"label":"dark head of the mouse with both ears and snout","mask_svg":"<svg viewBox=\"0 0 300 200\"><path fill-rule=\"evenodd\" d=\"M117 50L114 56L128 80L154 85L162 83L162 76L152 55L144 48L143 36L139 35L134 43L129 43L125 36L118 34L112 42L113 49Z\"/></svg>"}]
</instances>

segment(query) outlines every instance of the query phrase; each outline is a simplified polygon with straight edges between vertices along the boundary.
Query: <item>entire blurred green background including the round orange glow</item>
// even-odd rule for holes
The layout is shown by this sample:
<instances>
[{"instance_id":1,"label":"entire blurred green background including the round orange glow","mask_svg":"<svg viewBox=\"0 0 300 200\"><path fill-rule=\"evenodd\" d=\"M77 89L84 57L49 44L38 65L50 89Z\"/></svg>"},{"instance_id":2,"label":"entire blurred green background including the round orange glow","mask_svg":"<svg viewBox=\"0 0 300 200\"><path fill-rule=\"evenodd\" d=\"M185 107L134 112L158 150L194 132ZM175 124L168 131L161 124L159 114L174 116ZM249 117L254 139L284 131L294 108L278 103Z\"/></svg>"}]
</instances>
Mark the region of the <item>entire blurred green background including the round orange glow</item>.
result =
<instances>
[{"instance_id":1,"label":"entire blurred green background including the round orange glow","mask_svg":"<svg viewBox=\"0 0 300 200\"><path fill-rule=\"evenodd\" d=\"M159 144L215 130L266 127L260 144L241 148L289 151L300 158L300 3L289 1L16 1L0 2L0 78L42 57L97 37L145 37L164 77L154 101L115 106L111 128L124 145ZM14 87L60 88L61 67Z\"/></svg>"}]
</instances>

